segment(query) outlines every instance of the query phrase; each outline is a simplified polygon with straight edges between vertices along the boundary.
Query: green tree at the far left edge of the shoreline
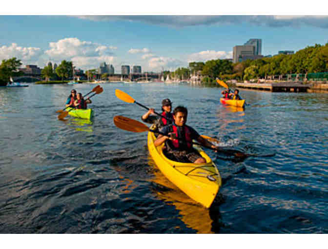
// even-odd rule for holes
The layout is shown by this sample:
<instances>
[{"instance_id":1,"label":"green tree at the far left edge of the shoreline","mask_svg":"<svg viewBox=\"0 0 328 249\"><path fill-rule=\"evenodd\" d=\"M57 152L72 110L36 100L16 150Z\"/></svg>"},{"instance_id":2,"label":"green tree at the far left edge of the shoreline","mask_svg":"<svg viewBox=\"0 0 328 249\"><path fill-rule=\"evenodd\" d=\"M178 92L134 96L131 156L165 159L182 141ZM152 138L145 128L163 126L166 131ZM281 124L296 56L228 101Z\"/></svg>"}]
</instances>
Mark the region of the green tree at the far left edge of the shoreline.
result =
<instances>
[{"instance_id":1,"label":"green tree at the far left edge of the shoreline","mask_svg":"<svg viewBox=\"0 0 328 249\"><path fill-rule=\"evenodd\" d=\"M21 64L21 60L17 60L16 57L2 60L0 64L0 85L6 85L10 77L19 77L23 75L23 73L18 70Z\"/></svg>"}]
</instances>

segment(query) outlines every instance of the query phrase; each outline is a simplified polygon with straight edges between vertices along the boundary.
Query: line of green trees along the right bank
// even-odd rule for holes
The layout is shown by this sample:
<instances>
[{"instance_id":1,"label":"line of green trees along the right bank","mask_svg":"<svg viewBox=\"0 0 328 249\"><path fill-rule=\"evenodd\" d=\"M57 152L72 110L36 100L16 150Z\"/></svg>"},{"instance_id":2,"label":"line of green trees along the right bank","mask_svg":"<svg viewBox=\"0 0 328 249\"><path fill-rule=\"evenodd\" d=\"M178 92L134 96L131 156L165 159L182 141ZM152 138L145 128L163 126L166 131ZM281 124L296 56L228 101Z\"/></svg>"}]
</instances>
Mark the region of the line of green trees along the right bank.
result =
<instances>
[{"instance_id":1,"label":"line of green trees along the right bank","mask_svg":"<svg viewBox=\"0 0 328 249\"><path fill-rule=\"evenodd\" d=\"M200 73L203 82L222 80L249 80L266 78L270 75L305 74L328 71L328 43L315 44L297 51L293 55L279 54L270 58L246 60L232 63L229 60L190 62L188 68L178 68L174 72L164 71L172 78L187 79Z\"/></svg>"}]
</instances>

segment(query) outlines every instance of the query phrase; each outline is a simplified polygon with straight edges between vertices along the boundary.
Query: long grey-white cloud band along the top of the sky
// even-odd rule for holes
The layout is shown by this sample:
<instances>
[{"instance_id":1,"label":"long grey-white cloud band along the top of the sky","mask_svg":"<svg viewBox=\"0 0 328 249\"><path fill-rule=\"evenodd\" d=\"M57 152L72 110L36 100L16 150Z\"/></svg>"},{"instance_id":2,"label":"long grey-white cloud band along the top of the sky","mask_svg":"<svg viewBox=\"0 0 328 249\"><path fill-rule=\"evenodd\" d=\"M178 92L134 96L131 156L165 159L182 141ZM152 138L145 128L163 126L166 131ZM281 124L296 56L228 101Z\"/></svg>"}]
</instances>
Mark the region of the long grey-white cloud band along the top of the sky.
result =
<instances>
[{"instance_id":1,"label":"long grey-white cloud band along the top of the sky","mask_svg":"<svg viewBox=\"0 0 328 249\"><path fill-rule=\"evenodd\" d=\"M285 27L285 26L315 26L328 28L328 16L297 16L297 15L277 15L277 16L250 16L250 15L221 15L221 16L201 16L201 15L181 15L181 16L74 16L80 19L92 21L140 21L155 25L186 27L196 25L213 25L213 24L241 24L251 23L258 26Z\"/></svg>"}]
</instances>

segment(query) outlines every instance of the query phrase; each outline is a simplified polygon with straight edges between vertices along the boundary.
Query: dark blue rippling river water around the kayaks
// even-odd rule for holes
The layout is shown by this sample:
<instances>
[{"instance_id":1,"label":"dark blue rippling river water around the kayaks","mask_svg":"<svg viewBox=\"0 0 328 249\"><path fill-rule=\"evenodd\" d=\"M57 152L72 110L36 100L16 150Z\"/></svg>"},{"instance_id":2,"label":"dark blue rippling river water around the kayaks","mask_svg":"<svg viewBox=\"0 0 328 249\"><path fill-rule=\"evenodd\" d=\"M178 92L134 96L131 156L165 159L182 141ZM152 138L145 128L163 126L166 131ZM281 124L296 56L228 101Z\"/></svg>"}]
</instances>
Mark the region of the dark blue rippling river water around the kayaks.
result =
<instances>
[{"instance_id":1,"label":"dark blue rippling river water around the kayaks","mask_svg":"<svg viewBox=\"0 0 328 249\"><path fill-rule=\"evenodd\" d=\"M72 88L94 84L0 89L1 233L328 233L327 94L241 89L241 110L220 104L221 87L101 86L92 122L59 121L55 111ZM200 134L258 156L205 149L223 179L205 209L154 165L146 132L114 125L116 115L141 121L146 111L115 89L158 112L170 98Z\"/></svg>"}]
</instances>

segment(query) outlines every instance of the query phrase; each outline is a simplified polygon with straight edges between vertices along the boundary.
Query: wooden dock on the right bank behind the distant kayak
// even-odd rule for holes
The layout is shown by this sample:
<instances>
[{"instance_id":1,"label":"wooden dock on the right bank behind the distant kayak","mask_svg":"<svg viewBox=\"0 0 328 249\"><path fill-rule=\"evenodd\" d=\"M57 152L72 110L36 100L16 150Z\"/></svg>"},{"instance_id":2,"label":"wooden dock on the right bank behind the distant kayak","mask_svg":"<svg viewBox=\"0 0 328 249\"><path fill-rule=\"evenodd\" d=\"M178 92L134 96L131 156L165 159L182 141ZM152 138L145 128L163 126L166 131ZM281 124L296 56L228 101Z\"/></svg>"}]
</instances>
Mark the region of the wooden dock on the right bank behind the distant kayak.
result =
<instances>
[{"instance_id":1,"label":"wooden dock on the right bank behind the distant kayak","mask_svg":"<svg viewBox=\"0 0 328 249\"><path fill-rule=\"evenodd\" d=\"M236 87L265 90L271 92L308 92L312 84L303 84L301 82L284 83L235 83Z\"/></svg>"}]
</instances>

